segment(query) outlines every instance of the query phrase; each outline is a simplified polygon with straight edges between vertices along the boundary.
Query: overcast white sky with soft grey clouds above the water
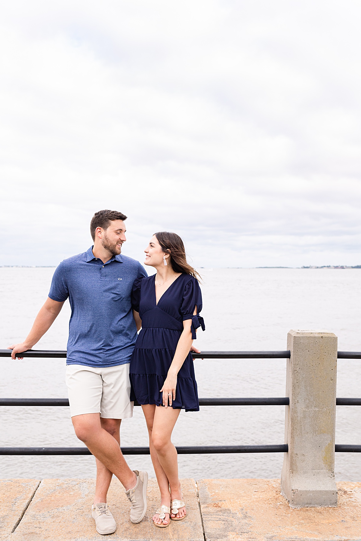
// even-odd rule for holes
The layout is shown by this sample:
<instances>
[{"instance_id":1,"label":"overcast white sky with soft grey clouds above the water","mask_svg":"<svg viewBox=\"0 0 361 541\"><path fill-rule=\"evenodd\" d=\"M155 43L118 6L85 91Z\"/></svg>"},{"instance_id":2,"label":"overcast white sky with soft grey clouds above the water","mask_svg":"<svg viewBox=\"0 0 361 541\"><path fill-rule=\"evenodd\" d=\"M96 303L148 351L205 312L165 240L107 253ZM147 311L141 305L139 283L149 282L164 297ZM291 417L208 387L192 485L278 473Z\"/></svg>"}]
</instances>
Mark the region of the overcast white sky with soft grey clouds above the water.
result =
<instances>
[{"instance_id":1,"label":"overcast white sky with soft grey clouds above the water","mask_svg":"<svg viewBox=\"0 0 361 541\"><path fill-rule=\"evenodd\" d=\"M123 253L361 264L359 0L31 0L0 13L0 265L57 265L96 210Z\"/></svg>"}]
</instances>

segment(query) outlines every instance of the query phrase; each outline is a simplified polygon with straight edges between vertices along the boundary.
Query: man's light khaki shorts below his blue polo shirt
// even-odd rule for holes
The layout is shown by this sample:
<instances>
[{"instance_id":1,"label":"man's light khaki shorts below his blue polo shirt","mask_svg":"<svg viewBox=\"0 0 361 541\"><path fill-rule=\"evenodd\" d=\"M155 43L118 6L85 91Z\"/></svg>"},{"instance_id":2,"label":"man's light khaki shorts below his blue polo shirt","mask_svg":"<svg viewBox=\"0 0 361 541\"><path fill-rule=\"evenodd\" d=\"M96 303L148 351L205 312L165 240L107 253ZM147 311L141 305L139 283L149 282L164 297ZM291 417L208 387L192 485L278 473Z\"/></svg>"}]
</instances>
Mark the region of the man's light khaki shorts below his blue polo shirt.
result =
<instances>
[{"instance_id":1,"label":"man's light khaki shorts below his blue polo shirt","mask_svg":"<svg viewBox=\"0 0 361 541\"><path fill-rule=\"evenodd\" d=\"M100 413L104 419L133 417L129 362L105 368L68 365L65 381L71 417L84 413Z\"/></svg>"}]
</instances>

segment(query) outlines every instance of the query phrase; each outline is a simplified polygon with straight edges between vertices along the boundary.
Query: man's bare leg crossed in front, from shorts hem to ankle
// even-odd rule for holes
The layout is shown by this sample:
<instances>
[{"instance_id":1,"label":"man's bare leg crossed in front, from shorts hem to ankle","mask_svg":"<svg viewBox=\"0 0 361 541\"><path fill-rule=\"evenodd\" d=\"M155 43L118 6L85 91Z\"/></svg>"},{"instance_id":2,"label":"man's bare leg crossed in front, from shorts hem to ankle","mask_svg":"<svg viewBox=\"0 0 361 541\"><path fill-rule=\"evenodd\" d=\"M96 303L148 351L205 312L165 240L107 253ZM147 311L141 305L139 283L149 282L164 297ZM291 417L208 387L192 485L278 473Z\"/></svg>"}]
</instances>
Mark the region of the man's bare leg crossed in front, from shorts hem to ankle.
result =
<instances>
[{"instance_id":1,"label":"man's bare leg crossed in front, from shorts hem to ankle","mask_svg":"<svg viewBox=\"0 0 361 541\"><path fill-rule=\"evenodd\" d=\"M102 427L100 414L75 415L71 420L76 436L86 444L91 454L94 454L106 469L114 473L124 489L132 489L136 484L136 475L126 463L119 443ZM109 477L111 479L108 475L108 479Z\"/></svg>"}]
</instances>

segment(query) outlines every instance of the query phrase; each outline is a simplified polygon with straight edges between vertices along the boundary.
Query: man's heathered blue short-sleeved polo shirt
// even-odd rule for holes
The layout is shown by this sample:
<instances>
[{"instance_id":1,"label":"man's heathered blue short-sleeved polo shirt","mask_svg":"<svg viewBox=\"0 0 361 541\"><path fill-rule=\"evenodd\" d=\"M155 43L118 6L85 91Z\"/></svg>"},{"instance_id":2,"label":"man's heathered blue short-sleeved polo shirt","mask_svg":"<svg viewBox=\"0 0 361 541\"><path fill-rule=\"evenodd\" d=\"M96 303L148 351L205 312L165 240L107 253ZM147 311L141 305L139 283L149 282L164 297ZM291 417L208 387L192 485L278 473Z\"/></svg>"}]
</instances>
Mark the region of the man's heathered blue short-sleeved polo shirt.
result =
<instances>
[{"instance_id":1,"label":"man's heathered blue short-sleeved polo shirt","mask_svg":"<svg viewBox=\"0 0 361 541\"><path fill-rule=\"evenodd\" d=\"M50 299L71 306L67 365L117 366L130 362L136 325L130 293L145 269L125 255L103 263L93 246L55 269Z\"/></svg>"}]
</instances>

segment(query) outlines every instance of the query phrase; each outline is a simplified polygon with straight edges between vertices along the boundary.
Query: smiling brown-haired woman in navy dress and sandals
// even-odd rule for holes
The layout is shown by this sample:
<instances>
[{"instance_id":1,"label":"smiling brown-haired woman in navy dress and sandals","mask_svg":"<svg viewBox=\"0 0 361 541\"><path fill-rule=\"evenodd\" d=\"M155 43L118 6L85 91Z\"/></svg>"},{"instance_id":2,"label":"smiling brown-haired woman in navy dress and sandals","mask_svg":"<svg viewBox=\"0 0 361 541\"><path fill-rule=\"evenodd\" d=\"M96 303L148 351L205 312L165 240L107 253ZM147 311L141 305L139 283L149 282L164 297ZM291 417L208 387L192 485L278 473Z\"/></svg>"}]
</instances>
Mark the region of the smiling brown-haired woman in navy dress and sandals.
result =
<instances>
[{"instance_id":1,"label":"smiling brown-haired woman in navy dress and sandals","mask_svg":"<svg viewBox=\"0 0 361 541\"><path fill-rule=\"evenodd\" d=\"M134 318L142 330L130 361L130 400L137 400L143 408L161 493L161 506L153 522L166 527L170 519L186 516L177 452L170 436L181 410L199 411L189 349L196 329L201 326L205 330L205 326L199 315L200 276L188 265L180 236L155 233L145 253L145 265L156 268L156 274L133 285Z\"/></svg>"}]
</instances>

